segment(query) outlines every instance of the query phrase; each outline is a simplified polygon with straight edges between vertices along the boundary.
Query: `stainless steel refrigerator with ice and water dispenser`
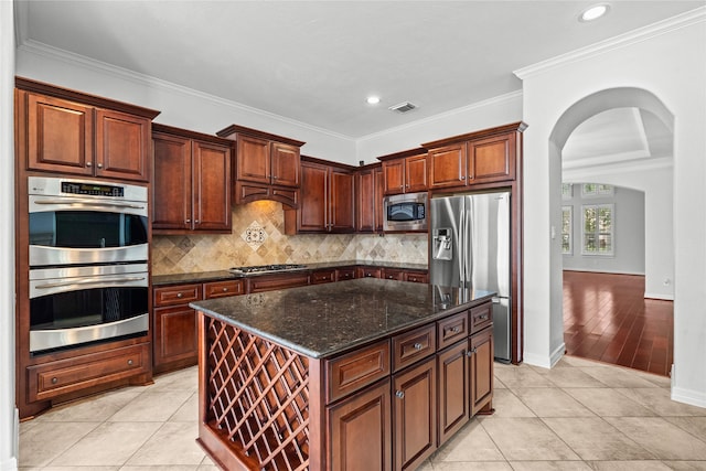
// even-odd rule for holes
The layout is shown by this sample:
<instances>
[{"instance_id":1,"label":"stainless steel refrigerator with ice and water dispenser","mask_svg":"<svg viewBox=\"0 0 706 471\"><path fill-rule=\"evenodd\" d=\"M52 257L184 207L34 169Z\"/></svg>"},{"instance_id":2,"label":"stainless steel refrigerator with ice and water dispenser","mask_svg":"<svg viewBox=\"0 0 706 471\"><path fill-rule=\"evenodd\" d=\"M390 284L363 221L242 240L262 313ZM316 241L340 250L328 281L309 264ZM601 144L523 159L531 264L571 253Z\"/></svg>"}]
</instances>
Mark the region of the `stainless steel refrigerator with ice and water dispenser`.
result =
<instances>
[{"instance_id":1,"label":"stainless steel refrigerator with ice and water dispenser","mask_svg":"<svg viewBox=\"0 0 706 471\"><path fill-rule=\"evenodd\" d=\"M429 277L432 285L495 291L495 360L510 362L510 192L432 197Z\"/></svg>"}]
</instances>

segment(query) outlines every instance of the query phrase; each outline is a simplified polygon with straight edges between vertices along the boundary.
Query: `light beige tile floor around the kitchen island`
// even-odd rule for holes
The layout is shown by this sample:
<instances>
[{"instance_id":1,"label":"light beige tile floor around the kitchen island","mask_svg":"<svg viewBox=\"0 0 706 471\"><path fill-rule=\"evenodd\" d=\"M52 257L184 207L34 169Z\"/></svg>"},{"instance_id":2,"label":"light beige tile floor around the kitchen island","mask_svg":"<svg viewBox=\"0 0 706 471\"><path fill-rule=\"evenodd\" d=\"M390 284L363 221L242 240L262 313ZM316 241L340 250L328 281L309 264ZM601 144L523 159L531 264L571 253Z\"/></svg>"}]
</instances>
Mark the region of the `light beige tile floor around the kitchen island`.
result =
<instances>
[{"instance_id":1,"label":"light beige tile floor around the kitchen island","mask_svg":"<svg viewBox=\"0 0 706 471\"><path fill-rule=\"evenodd\" d=\"M215 470L195 443L196 368L56 407L20 426L20 469ZM567 356L495 364L495 414L471 420L420 471L706 470L706 409L670 379Z\"/></svg>"}]
</instances>

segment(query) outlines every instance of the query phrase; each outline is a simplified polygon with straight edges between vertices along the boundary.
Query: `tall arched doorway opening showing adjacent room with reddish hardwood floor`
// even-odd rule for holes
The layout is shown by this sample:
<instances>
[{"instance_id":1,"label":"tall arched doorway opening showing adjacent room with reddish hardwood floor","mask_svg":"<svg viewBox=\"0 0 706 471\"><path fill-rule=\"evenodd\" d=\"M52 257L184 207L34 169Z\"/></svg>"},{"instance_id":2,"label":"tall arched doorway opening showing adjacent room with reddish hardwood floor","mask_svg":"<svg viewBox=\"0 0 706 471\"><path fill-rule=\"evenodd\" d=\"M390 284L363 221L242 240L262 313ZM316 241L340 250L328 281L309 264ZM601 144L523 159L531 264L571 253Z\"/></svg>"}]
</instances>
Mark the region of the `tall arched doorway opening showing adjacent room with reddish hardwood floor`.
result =
<instances>
[{"instance_id":1,"label":"tall arched doorway opening showing adjacent room with reddish hardwood floor","mask_svg":"<svg viewBox=\"0 0 706 471\"><path fill-rule=\"evenodd\" d=\"M571 106L557 121L552 142L561 161L566 354L668 376L673 116L646 90L603 90ZM567 185L575 192L570 202ZM642 207L595 197L600 194L576 201L576 192L587 188L634 191ZM627 213L641 216L641 223L640 217L625 223ZM574 233L568 243L567 224ZM625 235L627 226L632 234Z\"/></svg>"}]
</instances>

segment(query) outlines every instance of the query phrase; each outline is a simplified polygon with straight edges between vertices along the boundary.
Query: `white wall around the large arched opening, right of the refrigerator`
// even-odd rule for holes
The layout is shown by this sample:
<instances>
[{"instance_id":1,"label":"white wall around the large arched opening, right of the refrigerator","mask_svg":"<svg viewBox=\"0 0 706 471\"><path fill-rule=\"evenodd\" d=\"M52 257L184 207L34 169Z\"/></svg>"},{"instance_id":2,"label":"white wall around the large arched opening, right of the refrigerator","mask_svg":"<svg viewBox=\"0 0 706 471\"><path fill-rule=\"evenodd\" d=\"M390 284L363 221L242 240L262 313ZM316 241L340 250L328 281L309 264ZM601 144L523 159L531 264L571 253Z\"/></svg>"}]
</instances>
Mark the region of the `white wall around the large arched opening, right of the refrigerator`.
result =
<instances>
[{"instance_id":1,"label":"white wall around the large arched opening, right of the refrigerator","mask_svg":"<svg viewBox=\"0 0 706 471\"><path fill-rule=\"evenodd\" d=\"M674 375L672 397L706 407L706 9L571 57L523 78L525 131L525 361L547 365L561 349L561 282L552 240L559 227L559 149L549 142L565 110L593 93L635 87L664 103L674 125ZM700 60L699 60L700 58ZM559 170L557 170L559 169Z\"/></svg>"}]
</instances>

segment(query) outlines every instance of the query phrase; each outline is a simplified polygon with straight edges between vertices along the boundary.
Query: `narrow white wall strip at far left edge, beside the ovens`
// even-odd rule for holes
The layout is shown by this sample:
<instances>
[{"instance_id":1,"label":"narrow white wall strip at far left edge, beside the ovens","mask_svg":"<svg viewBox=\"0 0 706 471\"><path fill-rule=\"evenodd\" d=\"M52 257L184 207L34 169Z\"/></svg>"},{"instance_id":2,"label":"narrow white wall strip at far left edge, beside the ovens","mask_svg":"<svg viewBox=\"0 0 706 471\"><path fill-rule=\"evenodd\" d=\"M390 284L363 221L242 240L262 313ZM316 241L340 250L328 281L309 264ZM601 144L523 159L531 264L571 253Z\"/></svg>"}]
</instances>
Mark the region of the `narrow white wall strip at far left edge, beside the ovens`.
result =
<instances>
[{"instance_id":1,"label":"narrow white wall strip at far left edge, beside the ovens","mask_svg":"<svg viewBox=\"0 0 706 471\"><path fill-rule=\"evenodd\" d=\"M0 1L0 470L18 468L14 407L14 19Z\"/></svg>"}]
</instances>

